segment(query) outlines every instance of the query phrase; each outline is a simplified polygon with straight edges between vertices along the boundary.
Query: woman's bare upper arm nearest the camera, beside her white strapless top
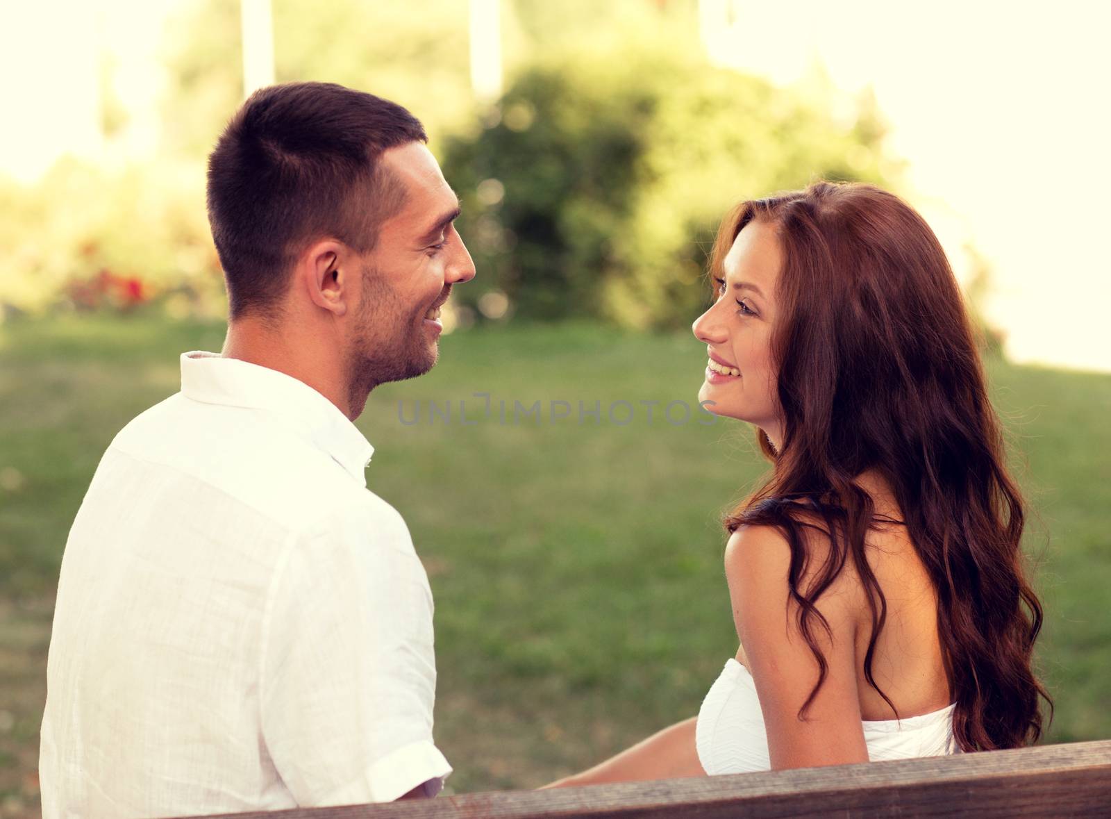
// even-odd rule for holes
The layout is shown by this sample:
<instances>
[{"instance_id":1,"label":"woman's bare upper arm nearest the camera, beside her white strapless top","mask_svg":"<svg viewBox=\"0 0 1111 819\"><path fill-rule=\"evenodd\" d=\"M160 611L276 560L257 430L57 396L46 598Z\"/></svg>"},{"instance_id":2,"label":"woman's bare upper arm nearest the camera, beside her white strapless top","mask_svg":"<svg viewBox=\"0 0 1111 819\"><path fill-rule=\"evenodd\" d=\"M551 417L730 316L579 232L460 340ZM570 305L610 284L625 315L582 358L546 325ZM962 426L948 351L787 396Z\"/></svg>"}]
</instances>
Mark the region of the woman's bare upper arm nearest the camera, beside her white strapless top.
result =
<instances>
[{"instance_id":1,"label":"woman's bare upper arm nearest the camera, beside her white strapless top","mask_svg":"<svg viewBox=\"0 0 1111 819\"><path fill-rule=\"evenodd\" d=\"M821 567L829 541L810 537L807 548L810 566ZM771 767L867 762L855 672L857 608L862 603L849 567L813 601L829 626L827 631L817 617L811 620L828 667L805 719L800 719L818 682L818 660L799 628L799 605L788 586L790 565L790 546L768 527L741 527L725 547L733 619L760 698ZM809 582L805 576L800 579L800 592Z\"/></svg>"}]
</instances>

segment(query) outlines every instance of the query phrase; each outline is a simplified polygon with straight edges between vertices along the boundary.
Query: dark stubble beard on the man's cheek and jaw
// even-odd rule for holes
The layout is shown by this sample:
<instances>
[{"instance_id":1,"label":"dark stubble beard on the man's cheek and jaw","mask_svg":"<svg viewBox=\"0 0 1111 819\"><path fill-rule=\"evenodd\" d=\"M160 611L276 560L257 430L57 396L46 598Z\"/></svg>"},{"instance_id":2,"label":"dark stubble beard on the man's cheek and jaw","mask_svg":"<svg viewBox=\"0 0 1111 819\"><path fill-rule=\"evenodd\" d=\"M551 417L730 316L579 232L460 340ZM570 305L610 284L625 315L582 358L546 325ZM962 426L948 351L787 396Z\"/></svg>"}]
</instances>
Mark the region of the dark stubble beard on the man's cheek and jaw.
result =
<instances>
[{"instance_id":1,"label":"dark stubble beard on the man's cheek and jaw","mask_svg":"<svg viewBox=\"0 0 1111 819\"><path fill-rule=\"evenodd\" d=\"M436 364L421 317L428 304L404 304L377 270L363 268L354 337L348 350L348 403L359 412L381 383L423 376ZM356 413L358 415L358 412Z\"/></svg>"}]
</instances>

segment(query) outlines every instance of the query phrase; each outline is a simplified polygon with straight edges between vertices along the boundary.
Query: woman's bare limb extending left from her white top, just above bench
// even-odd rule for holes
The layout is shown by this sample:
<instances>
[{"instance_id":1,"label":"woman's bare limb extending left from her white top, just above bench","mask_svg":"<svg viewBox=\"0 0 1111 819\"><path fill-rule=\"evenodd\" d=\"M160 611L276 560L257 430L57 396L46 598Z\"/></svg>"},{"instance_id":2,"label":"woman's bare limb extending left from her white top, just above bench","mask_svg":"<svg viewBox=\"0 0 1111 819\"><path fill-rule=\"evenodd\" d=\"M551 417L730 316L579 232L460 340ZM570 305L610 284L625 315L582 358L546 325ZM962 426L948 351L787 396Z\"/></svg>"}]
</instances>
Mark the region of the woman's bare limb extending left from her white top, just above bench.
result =
<instances>
[{"instance_id":1,"label":"woman's bare limb extending left from her white top, just above bench","mask_svg":"<svg viewBox=\"0 0 1111 819\"><path fill-rule=\"evenodd\" d=\"M705 771L698 761L694 748L694 717L677 722L590 770L564 777L544 787L704 777Z\"/></svg>"}]
</instances>

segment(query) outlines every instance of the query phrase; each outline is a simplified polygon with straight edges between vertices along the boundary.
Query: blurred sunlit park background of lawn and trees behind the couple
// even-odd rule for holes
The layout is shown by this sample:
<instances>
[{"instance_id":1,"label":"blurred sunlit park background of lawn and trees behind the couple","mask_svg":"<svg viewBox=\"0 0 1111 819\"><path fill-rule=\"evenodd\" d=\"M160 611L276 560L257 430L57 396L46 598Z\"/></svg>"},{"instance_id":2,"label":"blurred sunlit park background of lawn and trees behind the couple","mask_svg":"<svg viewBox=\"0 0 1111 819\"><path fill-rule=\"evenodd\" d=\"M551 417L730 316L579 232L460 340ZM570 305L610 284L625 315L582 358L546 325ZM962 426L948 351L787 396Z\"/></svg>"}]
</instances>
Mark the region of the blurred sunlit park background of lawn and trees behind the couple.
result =
<instances>
[{"instance_id":1,"label":"blurred sunlit park background of lawn and trees behind the couple","mask_svg":"<svg viewBox=\"0 0 1111 819\"><path fill-rule=\"evenodd\" d=\"M0 817L38 810L58 568L97 461L181 351L220 348L204 161L274 81L401 102L463 202L479 274L443 361L359 421L437 597L451 788L534 787L697 710L735 650L715 515L762 466L723 427L406 427L397 402L693 400L717 221L818 178L890 188L942 240L1044 561L1049 739L1111 736L1109 8L6 3Z\"/></svg>"}]
</instances>

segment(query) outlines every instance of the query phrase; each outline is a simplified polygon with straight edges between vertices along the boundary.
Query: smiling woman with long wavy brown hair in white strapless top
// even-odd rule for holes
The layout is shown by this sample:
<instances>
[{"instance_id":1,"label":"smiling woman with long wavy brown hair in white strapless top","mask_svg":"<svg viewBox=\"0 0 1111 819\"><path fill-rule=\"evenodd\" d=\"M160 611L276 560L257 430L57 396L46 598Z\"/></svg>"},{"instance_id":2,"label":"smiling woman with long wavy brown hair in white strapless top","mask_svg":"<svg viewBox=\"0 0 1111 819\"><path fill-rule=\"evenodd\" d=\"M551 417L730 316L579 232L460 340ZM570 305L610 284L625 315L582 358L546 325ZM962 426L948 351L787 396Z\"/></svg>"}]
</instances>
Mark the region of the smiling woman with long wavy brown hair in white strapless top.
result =
<instances>
[{"instance_id":1,"label":"smiling woman with long wavy brown hair in white strapless top","mask_svg":"<svg viewBox=\"0 0 1111 819\"><path fill-rule=\"evenodd\" d=\"M556 785L1037 740L1022 502L930 228L822 182L735 208L712 274L699 398L773 465L725 518L740 649L697 718Z\"/></svg>"}]
</instances>

